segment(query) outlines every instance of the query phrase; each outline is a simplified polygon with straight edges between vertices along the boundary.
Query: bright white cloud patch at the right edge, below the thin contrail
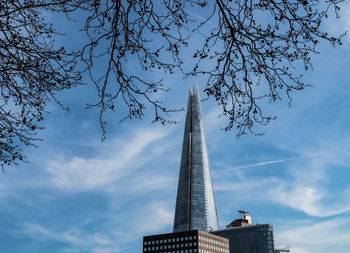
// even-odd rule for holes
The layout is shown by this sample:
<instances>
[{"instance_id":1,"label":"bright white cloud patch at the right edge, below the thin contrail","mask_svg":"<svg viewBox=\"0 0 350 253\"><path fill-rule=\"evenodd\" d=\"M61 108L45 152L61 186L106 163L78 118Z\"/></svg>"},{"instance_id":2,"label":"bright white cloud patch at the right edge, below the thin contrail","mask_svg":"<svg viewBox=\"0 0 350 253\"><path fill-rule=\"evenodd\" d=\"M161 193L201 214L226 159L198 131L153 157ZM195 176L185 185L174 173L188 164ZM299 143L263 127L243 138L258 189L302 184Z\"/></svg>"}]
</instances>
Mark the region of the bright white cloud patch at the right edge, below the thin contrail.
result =
<instances>
[{"instance_id":1,"label":"bright white cloud patch at the right edge, below the thin contrail","mask_svg":"<svg viewBox=\"0 0 350 253\"><path fill-rule=\"evenodd\" d=\"M341 156L333 155L312 157L303 165L289 166L291 177L281 179L275 187L270 188L268 196L284 206L300 210L310 216L328 217L350 210L350 191L348 185L340 190L329 188L333 167L343 164ZM333 182L334 184L334 182Z\"/></svg>"}]
</instances>

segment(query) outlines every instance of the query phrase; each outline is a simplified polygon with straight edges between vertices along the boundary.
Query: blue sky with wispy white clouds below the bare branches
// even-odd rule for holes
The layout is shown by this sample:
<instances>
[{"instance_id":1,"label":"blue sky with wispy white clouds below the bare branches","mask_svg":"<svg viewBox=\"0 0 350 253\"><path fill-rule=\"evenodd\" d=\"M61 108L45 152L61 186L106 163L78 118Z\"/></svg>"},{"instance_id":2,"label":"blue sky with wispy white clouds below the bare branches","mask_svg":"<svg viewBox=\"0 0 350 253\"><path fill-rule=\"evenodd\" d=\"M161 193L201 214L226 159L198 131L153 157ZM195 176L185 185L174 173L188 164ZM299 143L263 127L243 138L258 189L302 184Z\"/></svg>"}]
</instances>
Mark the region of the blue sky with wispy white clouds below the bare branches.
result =
<instances>
[{"instance_id":1,"label":"blue sky with wispy white clouds below the bare branches","mask_svg":"<svg viewBox=\"0 0 350 253\"><path fill-rule=\"evenodd\" d=\"M350 4L326 28L350 30ZM277 119L263 136L221 131L215 103L202 103L220 227L250 211L293 253L350 252L350 36L320 50L304 79L314 87L291 107L267 104ZM189 85L204 88L180 75L166 84L162 100L179 107ZM185 112L167 126L108 115L101 142L97 111L84 109L94 92L60 93L71 110L50 104L43 141L25 148L29 163L0 175L0 252L141 252L144 235L172 231Z\"/></svg>"}]
</instances>

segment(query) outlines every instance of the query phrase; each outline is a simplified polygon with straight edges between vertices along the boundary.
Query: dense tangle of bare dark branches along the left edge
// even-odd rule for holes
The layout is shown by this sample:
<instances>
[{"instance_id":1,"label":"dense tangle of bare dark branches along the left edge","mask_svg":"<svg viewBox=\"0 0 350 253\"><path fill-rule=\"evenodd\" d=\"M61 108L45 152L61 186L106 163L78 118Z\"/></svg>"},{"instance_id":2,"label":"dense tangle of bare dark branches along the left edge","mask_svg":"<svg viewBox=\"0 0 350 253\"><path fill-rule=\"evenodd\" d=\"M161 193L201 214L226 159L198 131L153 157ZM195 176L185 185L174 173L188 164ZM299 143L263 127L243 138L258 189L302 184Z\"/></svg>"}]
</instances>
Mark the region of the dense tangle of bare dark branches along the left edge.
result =
<instances>
[{"instance_id":1,"label":"dense tangle of bare dark branches along the left edge","mask_svg":"<svg viewBox=\"0 0 350 253\"><path fill-rule=\"evenodd\" d=\"M80 84L73 55L55 49L41 10L67 1L2 1L0 4L0 164L24 160L21 144L35 145L47 102ZM39 8L40 7L40 8ZM59 102L58 102L59 103Z\"/></svg>"}]
</instances>

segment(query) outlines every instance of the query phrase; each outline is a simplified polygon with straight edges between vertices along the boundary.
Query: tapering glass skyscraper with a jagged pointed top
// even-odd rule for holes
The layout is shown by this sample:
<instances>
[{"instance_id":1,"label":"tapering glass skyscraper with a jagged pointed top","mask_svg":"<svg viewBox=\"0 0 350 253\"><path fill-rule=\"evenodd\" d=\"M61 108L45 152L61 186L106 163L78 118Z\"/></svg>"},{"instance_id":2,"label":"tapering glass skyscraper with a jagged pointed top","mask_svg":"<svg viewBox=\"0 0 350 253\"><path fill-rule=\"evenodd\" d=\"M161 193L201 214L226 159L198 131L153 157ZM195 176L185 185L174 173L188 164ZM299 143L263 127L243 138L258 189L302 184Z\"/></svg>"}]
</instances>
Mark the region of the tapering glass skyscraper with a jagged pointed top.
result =
<instances>
[{"instance_id":1,"label":"tapering glass skyscraper with a jagged pointed top","mask_svg":"<svg viewBox=\"0 0 350 253\"><path fill-rule=\"evenodd\" d=\"M219 229L198 86L188 97L174 232Z\"/></svg>"}]
</instances>

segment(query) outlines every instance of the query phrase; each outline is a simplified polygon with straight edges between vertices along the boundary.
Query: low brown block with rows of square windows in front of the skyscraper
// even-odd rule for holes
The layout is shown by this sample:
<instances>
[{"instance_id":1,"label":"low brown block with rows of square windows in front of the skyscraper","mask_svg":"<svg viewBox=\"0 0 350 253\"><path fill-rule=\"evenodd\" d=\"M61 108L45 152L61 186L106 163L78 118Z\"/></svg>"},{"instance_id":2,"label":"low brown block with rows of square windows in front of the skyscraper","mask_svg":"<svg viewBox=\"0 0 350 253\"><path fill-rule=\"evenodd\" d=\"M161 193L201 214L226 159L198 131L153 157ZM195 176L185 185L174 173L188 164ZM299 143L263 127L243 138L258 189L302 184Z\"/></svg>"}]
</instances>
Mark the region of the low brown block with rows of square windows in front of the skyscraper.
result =
<instances>
[{"instance_id":1,"label":"low brown block with rows of square windows in front of the skyscraper","mask_svg":"<svg viewBox=\"0 0 350 253\"><path fill-rule=\"evenodd\" d=\"M147 253L229 253L229 240L200 230L145 236Z\"/></svg>"}]
</instances>

